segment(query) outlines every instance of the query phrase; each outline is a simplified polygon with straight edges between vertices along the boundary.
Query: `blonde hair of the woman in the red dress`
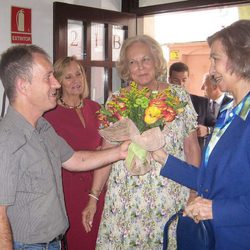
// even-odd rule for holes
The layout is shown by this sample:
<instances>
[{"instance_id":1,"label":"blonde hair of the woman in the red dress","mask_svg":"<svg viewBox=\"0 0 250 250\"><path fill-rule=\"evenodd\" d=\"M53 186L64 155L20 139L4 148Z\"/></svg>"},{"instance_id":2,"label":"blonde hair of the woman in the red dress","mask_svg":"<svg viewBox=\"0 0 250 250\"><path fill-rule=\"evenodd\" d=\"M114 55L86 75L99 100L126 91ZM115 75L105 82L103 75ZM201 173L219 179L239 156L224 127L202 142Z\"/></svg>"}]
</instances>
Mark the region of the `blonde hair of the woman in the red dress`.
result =
<instances>
[{"instance_id":1,"label":"blonde hair of the woman in the red dress","mask_svg":"<svg viewBox=\"0 0 250 250\"><path fill-rule=\"evenodd\" d=\"M87 79L86 79L86 74L84 71L83 66L77 61L76 57L74 56L65 56L65 57L61 57L59 58L55 63L54 63L54 76L57 79L57 81L61 84L62 82L62 76L64 73L64 70L66 67L69 66L69 64L71 62L76 62L81 70L81 73L83 75L84 78L84 88L83 88L83 93L81 94L81 98L86 98L89 96L89 86L87 83ZM58 93L58 97L61 97L63 93L63 89L61 88L59 93Z\"/></svg>"}]
</instances>

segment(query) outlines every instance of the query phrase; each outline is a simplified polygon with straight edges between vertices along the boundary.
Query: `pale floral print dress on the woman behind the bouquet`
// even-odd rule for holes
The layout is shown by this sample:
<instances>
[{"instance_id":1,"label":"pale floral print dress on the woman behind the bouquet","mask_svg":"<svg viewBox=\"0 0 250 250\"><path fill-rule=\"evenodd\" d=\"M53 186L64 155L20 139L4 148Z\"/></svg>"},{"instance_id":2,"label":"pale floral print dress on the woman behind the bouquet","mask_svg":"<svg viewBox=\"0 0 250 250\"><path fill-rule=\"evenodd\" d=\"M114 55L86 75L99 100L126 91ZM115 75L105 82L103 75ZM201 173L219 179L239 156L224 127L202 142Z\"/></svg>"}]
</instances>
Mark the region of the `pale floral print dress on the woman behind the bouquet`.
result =
<instances>
[{"instance_id":1,"label":"pale floral print dress on the woman behind the bouquet","mask_svg":"<svg viewBox=\"0 0 250 250\"><path fill-rule=\"evenodd\" d=\"M180 100L188 102L184 112L163 129L168 153L184 159L183 141L196 129L197 115L188 93L177 85ZM99 227L97 250L160 250L166 221L189 196L189 189L160 176L161 165L151 160L152 170L131 176L124 161L113 164ZM176 224L169 231L169 250L176 249Z\"/></svg>"}]
</instances>

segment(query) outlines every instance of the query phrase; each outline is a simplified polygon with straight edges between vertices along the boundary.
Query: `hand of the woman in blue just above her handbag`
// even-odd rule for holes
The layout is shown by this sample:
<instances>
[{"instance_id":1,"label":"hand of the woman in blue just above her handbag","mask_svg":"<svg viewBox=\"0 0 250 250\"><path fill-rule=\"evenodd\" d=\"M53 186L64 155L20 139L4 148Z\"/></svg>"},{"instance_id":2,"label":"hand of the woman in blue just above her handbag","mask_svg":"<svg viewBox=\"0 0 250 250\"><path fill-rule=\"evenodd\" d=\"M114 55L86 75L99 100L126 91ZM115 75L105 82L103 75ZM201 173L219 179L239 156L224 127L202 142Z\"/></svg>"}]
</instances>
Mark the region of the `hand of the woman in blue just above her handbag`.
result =
<instances>
[{"instance_id":1,"label":"hand of the woman in blue just above her handbag","mask_svg":"<svg viewBox=\"0 0 250 250\"><path fill-rule=\"evenodd\" d=\"M200 196L195 198L187 205L183 215L192 218L196 223L213 219L212 200Z\"/></svg>"}]
</instances>

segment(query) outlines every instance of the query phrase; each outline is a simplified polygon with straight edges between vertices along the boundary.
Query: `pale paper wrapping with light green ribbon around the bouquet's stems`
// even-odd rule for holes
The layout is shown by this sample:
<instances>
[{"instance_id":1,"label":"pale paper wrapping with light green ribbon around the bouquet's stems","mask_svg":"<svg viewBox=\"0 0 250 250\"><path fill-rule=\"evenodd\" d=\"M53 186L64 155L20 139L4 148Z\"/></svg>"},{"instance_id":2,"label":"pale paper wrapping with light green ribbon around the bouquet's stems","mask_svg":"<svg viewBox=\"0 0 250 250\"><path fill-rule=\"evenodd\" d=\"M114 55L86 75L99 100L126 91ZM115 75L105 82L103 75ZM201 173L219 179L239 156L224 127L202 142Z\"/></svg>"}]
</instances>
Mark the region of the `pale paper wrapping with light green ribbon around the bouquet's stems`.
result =
<instances>
[{"instance_id":1,"label":"pale paper wrapping with light green ribbon around the bouquet's stems","mask_svg":"<svg viewBox=\"0 0 250 250\"><path fill-rule=\"evenodd\" d=\"M152 168L150 161L155 157L160 163L165 161L164 151L158 151L165 145L164 135L159 127L140 133L129 118L123 118L108 128L101 129L100 135L111 143L129 141L125 165L130 175L144 175ZM121 144L122 145L122 144ZM155 155L155 156L154 156Z\"/></svg>"}]
</instances>

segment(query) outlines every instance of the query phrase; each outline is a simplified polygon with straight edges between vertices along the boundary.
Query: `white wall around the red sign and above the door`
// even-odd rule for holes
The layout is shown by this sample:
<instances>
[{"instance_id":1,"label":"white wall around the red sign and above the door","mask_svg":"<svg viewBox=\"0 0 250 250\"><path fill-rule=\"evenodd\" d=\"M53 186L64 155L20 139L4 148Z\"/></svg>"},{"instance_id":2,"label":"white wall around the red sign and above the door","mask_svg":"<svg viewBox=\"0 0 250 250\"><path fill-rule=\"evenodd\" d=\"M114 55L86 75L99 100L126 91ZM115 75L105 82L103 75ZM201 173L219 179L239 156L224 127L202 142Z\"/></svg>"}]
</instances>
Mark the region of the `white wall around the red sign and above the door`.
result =
<instances>
[{"instance_id":1,"label":"white wall around the red sign and above the door","mask_svg":"<svg viewBox=\"0 0 250 250\"><path fill-rule=\"evenodd\" d=\"M53 57L53 2L54 0L0 0L0 54L11 44L11 6L31 8L32 43ZM64 0L70 4L121 11L121 0ZM0 107L3 87L0 84ZM1 109L0 109L1 111Z\"/></svg>"}]
</instances>

